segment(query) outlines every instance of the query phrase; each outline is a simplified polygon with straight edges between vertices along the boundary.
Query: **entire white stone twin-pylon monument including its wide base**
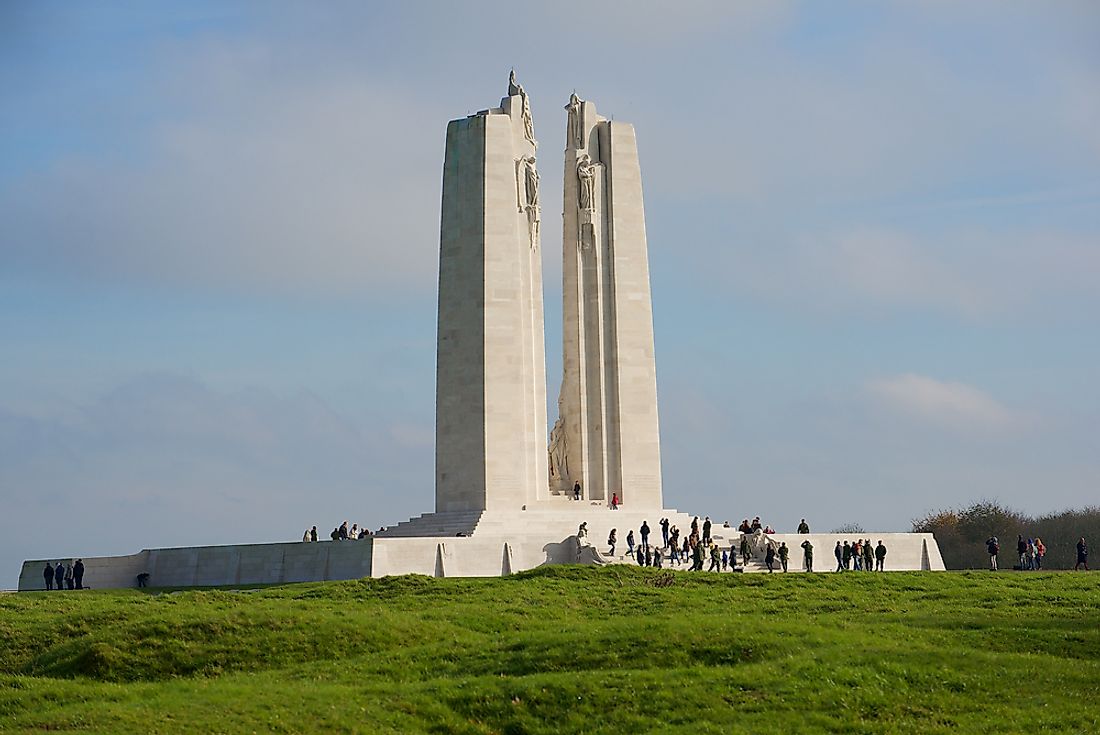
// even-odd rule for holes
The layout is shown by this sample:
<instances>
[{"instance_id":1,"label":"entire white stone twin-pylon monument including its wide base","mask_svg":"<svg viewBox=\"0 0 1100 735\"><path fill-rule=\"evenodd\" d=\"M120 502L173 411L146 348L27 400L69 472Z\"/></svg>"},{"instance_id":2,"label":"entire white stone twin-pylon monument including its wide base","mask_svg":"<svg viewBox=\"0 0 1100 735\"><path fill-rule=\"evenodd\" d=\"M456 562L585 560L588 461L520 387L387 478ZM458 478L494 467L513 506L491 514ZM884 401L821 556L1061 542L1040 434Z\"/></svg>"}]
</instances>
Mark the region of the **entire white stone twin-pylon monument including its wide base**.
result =
<instances>
[{"instance_id":1,"label":"entire white stone twin-pylon monument including its wide base","mask_svg":"<svg viewBox=\"0 0 1100 735\"><path fill-rule=\"evenodd\" d=\"M629 530L663 509L649 257L634 128L573 95L566 122L563 376L547 449L539 173L515 74L501 107L447 129L439 249L436 513L362 540L145 549L85 557L99 589L257 584L388 574L486 577L548 563L627 561ZM573 486L582 498L574 501ZM609 507L618 495L619 509ZM580 529L580 530L579 530ZM614 557L603 539L617 530ZM738 542L714 528L716 542ZM884 538L890 569L943 569L931 534ZM774 536L820 553L839 537ZM640 540L640 539L639 539ZM44 560L20 590L41 589ZM827 564L825 566L828 567ZM759 569L750 569L759 571ZM749 571L749 570L747 570Z\"/></svg>"}]
</instances>

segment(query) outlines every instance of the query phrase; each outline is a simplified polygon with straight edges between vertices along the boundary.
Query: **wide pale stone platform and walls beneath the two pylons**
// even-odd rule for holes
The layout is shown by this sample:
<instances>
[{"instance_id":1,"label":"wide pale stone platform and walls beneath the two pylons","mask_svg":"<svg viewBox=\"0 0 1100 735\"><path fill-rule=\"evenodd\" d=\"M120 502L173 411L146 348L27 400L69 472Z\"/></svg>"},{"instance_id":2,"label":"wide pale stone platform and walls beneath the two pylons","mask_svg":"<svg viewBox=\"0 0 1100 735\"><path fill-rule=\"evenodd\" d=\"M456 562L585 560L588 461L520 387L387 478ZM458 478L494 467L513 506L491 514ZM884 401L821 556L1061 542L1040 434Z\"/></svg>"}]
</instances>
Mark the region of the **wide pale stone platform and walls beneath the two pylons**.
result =
<instances>
[{"instance_id":1,"label":"wide pale stone platform and walls beneath the two pylons","mask_svg":"<svg viewBox=\"0 0 1100 735\"><path fill-rule=\"evenodd\" d=\"M634 563L626 555L630 529L640 540L638 528L649 523L650 540L659 544L659 522L667 517L686 535L693 516L676 511L644 512L626 506L612 511L602 504L561 501L516 512L475 514L428 514L398 524L377 536L354 541L317 544L251 544L234 546L145 549L123 557L84 557L85 582L94 589L132 588L138 574L148 573L151 586L213 586L234 584L280 584L329 580L350 580L394 574L430 577L498 577L562 563ZM587 523L586 545L579 545L578 526ZM608 556L607 535L615 528L618 544ZM443 534L441 531L446 530ZM453 531L450 533L450 531ZM416 534L422 535L416 535ZM459 535L463 534L463 535ZM737 548L740 534L715 525L712 536L723 547ZM873 542L886 544L887 570L943 570L932 534L859 534ZM844 534L777 534L777 544L791 549L790 570L801 571L800 544L814 545L815 571L836 568L833 547L837 540L854 540ZM62 557L62 561L69 559ZM45 559L23 563L19 578L21 591L42 590ZM54 563L58 558L51 559ZM683 568L683 567L681 567ZM777 564L778 568L778 564ZM762 558L751 561L746 571L763 571Z\"/></svg>"}]
</instances>

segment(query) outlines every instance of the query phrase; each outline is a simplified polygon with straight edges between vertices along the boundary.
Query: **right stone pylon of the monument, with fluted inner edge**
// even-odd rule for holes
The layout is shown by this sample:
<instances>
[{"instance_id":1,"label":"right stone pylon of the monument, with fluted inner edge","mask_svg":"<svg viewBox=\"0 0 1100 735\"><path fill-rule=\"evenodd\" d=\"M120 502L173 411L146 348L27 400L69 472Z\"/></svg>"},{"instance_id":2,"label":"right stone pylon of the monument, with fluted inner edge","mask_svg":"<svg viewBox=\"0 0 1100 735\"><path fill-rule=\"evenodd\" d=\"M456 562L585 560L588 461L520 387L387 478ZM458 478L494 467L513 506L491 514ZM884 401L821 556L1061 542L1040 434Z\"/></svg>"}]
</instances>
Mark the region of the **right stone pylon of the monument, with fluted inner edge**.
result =
<instances>
[{"instance_id":1,"label":"right stone pylon of the monument, with fluted inner edge","mask_svg":"<svg viewBox=\"0 0 1100 735\"><path fill-rule=\"evenodd\" d=\"M565 143L563 375L550 487L661 508L661 447L641 168L634 127L574 94Z\"/></svg>"}]
</instances>

